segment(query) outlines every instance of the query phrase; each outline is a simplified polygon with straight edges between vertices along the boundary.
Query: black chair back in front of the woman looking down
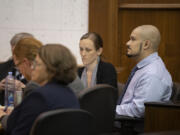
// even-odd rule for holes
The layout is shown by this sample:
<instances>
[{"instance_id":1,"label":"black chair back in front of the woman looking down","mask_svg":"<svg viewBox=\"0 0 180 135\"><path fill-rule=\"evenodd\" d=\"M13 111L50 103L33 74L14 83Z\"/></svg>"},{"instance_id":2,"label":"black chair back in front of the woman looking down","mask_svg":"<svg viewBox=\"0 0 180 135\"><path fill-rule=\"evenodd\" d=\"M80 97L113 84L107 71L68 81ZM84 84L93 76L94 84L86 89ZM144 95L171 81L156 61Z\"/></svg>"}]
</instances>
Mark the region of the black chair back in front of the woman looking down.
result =
<instances>
[{"instance_id":1,"label":"black chair back in front of the woman looking down","mask_svg":"<svg viewBox=\"0 0 180 135\"><path fill-rule=\"evenodd\" d=\"M116 88L107 84L87 88L79 94L79 102L81 109L94 115L96 133L108 133L113 130L117 102Z\"/></svg>"}]
</instances>

